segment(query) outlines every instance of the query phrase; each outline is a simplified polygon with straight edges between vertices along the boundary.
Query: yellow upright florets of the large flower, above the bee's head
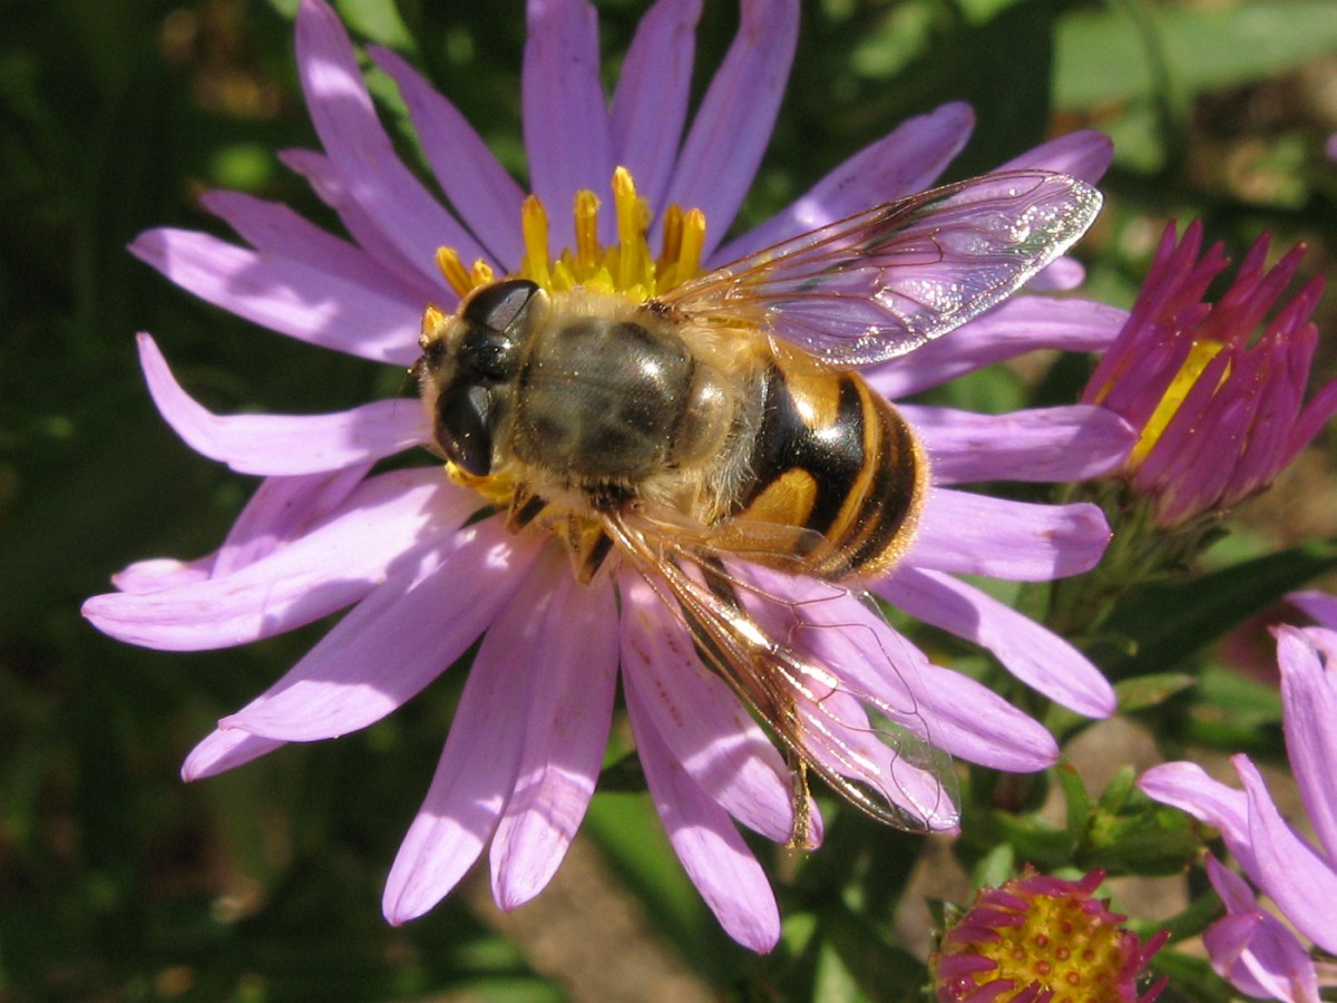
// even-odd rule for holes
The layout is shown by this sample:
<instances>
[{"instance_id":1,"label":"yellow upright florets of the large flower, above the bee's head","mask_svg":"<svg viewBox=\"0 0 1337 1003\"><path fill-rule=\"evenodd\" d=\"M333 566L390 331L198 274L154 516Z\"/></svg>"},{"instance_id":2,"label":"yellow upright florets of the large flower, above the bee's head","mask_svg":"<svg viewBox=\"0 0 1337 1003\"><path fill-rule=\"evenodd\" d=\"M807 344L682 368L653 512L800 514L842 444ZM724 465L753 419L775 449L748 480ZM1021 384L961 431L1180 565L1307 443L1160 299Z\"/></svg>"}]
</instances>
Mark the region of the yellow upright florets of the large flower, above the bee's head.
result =
<instances>
[{"instance_id":1,"label":"yellow upright florets of the large flower, above the bee's head","mask_svg":"<svg viewBox=\"0 0 1337 1003\"><path fill-rule=\"evenodd\" d=\"M636 194L635 181L626 167L612 173L612 205L618 241L604 246L599 242L599 197L588 189L578 191L572 207L575 247L566 247L554 257L548 250L548 211L536 195L529 195L520 210L524 257L509 278L528 278L548 293L584 288L639 304L686 282L701 270L706 214L699 209L683 211L670 205L664 210L662 249L659 257L654 257L648 239L654 214L650 203ZM496 280L492 267L483 259L465 269L453 247L437 250L436 263L461 298Z\"/></svg>"}]
</instances>

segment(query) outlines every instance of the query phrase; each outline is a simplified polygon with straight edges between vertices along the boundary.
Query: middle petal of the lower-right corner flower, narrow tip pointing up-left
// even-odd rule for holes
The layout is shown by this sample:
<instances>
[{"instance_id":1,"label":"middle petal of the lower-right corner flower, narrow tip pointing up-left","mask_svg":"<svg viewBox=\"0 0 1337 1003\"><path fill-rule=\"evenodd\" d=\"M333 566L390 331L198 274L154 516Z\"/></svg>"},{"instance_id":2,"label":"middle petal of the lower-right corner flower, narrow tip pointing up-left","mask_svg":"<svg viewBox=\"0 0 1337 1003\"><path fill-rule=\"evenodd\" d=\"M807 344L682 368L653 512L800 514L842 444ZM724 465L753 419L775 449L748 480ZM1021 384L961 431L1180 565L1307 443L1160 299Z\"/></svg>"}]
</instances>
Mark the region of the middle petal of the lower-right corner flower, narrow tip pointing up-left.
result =
<instances>
[{"instance_id":1,"label":"middle petal of the lower-right corner flower, narrow tip pointing up-left","mask_svg":"<svg viewBox=\"0 0 1337 1003\"><path fill-rule=\"evenodd\" d=\"M1249 757L1233 756L1231 762L1249 797L1249 839L1258 867L1249 876L1300 932L1325 951L1337 951L1337 873L1281 817Z\"/></svg>"}]
</instances>

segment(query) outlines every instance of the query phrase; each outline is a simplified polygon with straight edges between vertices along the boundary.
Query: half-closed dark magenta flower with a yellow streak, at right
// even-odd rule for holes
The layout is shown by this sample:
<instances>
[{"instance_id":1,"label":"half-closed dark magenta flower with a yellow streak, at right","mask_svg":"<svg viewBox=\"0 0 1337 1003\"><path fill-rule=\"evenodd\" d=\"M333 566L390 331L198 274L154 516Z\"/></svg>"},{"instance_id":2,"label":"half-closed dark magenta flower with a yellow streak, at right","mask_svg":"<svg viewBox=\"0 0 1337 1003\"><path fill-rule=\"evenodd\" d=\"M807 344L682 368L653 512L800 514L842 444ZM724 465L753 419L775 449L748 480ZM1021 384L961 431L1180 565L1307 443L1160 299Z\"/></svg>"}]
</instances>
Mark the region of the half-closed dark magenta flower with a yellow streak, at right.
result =
<instances>
[{"instance_id":1,"label":"half-closed dark magenta flower with a yellow streak, at right","mask_svg":"<svg viewBox=\"0 0 1337 1003\"><path fill-rule=\"evenodd\" d=\"M1165 527L1267 487L1337 411L1337 382L1304 403L1321 278L1258 333L1304 247L1265 269L1261 238L1217 304L1202 297L1229 262L1221 245L1201 251L1201 221L1178 243L1174 226L1166 229L1138 302L1083 396L1139 431L1124 476L1155 500Z\"/></svg>"}]
</instances>

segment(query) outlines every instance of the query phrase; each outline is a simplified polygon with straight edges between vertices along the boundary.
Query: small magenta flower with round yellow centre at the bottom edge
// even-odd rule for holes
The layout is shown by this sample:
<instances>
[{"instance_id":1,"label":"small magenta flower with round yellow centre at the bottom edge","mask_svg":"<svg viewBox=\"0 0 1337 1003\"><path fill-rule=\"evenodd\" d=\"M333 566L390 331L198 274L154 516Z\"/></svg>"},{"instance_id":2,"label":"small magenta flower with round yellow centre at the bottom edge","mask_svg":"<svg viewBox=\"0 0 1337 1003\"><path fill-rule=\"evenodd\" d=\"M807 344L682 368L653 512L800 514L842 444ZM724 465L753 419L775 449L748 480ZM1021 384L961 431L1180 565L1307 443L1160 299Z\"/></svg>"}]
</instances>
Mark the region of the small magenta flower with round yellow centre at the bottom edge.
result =
<instances>
[{"instance_id":1,"label":"small magenta flower with round yellow centre at the bottom edge","mask_svg":"<svg viewBox=\"0 0 1337 1003\"><path fill-rule=\"evenodd\" d=\"M1123 928L1127 916L1094 897L1102 881L1103 871L1066 881L1027 869L981 889L931 959L940 1003L1157 999L1167 979L1142 994L1138 980L1170 931L1143 944Z\"/></svg>"}]
</instances>

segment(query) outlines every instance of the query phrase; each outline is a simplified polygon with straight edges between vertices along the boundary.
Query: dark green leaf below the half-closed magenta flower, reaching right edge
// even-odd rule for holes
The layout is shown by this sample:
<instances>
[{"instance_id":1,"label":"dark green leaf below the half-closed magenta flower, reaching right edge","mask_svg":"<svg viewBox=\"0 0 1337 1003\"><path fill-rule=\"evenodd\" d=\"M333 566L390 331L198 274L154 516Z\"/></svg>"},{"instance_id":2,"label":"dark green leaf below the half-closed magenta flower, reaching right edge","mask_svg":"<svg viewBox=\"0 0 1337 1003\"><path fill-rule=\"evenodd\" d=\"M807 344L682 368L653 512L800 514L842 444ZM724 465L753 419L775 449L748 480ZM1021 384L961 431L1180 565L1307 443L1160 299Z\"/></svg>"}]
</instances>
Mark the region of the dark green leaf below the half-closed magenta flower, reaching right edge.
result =
<instances>
[{"instance_id":1,"label":"dark green leaf below the half-closed magenta flower, reaching right edge","mask_svg":"<svg viewBox=\"0 0 1337 1003\"><path fill-rule=\"evenodd\" d=\"M1237 623L1334 567L1337 544L1306 543L1191 582L1135 588L1104 625L1106 633L1132 643L1127 651L1111 651L1104 669L1114 678L1173 670Z\"/></svg>"}]
</instances>

